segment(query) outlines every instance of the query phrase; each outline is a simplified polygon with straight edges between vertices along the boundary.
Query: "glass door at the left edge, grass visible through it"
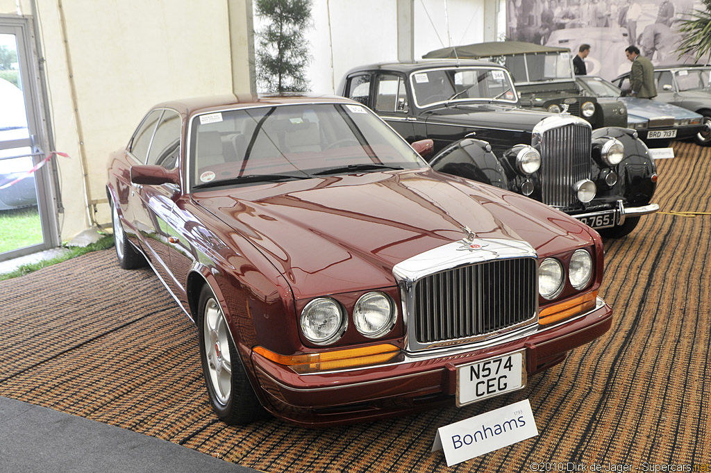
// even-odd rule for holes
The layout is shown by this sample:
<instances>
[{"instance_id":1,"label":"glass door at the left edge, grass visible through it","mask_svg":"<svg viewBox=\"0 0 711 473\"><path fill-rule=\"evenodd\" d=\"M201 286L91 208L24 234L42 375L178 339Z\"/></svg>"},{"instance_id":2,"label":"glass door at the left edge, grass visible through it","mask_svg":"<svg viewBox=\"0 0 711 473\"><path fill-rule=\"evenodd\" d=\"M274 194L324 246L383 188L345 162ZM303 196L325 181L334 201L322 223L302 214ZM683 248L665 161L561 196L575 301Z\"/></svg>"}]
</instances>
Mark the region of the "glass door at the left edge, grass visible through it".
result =
<instances>
[{"instance_id":1,"label":"glass door at the left edge, grass visible through it","mask_svg":"<svg viewBox=\"0 0 711 473\"><path fill-rule=\"evenodd\" d=\"M26 18L0 18L0 260L53 246L30 39Z\"/></svg>"}]
</instances>

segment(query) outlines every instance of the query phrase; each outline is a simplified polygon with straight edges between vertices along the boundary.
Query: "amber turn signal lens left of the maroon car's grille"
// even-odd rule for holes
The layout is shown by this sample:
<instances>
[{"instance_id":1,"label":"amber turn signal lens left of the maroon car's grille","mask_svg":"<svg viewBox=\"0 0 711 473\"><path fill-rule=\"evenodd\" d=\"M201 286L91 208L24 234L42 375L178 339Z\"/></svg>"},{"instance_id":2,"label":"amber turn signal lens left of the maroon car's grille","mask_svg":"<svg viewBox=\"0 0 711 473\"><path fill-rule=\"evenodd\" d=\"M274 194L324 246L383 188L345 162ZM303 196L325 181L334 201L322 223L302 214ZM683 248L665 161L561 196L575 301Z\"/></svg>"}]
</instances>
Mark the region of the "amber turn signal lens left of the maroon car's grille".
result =
<instances>
[{"instance_id":1,"label":"amber turn signal lens left of the maroon car's grille","mask_svg":"<svg viewBox=\"0 0 711 473\"><path fill-rule=\"evenodd\" d=\"M391 344L363 346L356 349L324 351L314 354L280 355L257 346L255 353L280 365L289 366L296 373L315 373L339 368L353 368L384 363L400 354L400 349Z\"/></svg>"}]
</instances>

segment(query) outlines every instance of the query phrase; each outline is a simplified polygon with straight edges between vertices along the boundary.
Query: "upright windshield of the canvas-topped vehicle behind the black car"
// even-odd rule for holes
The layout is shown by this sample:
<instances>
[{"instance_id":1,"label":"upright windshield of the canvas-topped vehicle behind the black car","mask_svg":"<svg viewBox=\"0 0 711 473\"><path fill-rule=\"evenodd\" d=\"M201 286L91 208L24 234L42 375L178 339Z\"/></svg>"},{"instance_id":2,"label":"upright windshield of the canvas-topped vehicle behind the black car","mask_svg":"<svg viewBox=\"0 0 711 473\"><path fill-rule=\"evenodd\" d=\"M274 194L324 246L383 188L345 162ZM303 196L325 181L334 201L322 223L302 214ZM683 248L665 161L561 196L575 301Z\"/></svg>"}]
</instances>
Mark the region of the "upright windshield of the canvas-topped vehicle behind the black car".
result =
<instances>
[{"instance_id":1,"label":"upright windshield of the canvas-topped vehicle behind the black car","mask_svg":"<svg viewBox=\"0 0 711 473\"><path fill-rule=\"evenodd\" d=\"M518 54L504 58L515 83L573 80L570 53Z\"/></svg>"}]
</instances>

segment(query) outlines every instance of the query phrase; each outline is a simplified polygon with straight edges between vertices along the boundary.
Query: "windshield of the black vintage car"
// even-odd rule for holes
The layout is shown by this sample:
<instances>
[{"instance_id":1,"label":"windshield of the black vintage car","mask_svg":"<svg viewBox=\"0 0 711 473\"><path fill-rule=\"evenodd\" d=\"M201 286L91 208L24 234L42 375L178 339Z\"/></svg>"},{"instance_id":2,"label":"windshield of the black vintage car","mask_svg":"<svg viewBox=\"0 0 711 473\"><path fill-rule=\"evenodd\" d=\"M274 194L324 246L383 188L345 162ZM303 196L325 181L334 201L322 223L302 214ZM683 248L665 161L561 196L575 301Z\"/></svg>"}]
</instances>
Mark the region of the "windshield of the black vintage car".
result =
<instances>
[{"instance_id":1,"label":"windshield of the black vintage car","mask_svg":"<svg viewBox=\"0 0 711 473\"><path fill-rule=\"evenodd\" d=\"M442 102L468 102L471 100L517 101L510 75L503 69L419 70L410 75L410 82L418 107L427 107Z\"/></svg>"}]
</instances>

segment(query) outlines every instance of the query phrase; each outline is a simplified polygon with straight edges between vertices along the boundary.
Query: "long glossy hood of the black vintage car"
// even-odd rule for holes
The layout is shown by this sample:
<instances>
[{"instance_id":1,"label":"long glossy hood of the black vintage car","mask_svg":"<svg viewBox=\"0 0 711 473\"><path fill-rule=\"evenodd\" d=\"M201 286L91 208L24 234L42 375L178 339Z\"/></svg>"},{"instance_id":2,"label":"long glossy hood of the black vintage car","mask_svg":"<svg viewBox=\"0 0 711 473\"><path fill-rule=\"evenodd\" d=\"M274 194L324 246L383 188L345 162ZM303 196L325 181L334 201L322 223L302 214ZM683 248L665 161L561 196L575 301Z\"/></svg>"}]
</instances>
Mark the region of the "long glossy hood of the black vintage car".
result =
<instances>
[{"instance_id":1,"label":"long glossy hood of the black vintage car","mask_svg":"<svg viewBox=\"0 0 711 473\"><path fill-rule=\"evenodd\" d=\"M515 129L532 132L538 122L550 113L522 108L501 107L488 104L466 104L429 110L427 122L436 121L451 124L485 125L487 128Z\"/></svg>"}]
</instances>

